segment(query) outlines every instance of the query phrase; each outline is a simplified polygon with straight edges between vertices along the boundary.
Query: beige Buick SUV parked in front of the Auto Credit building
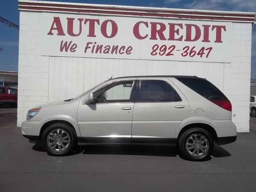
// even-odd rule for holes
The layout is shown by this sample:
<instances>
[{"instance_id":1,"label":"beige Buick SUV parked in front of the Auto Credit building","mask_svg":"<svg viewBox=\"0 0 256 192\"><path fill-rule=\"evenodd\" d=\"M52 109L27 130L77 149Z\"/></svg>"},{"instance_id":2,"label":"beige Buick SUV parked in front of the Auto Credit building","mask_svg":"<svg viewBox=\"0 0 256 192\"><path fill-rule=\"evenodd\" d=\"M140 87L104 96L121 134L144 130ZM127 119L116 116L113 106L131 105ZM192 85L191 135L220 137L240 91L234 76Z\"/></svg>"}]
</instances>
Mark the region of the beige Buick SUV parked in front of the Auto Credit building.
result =
<instances>
[{"instance_id":1,"label":"beige Buick SUV parked in front of the Auto Credit building","mask_svg":"<svg viewBox=\"0 0 256 192\"><path fill-rule=\"evenodd\" d=\"M236 141L228 98L196 76L130 76L104 81L76 98L28 111L22 134L54 156L86 143L177 145L203 160Z\"/></svg>"}]
</instances>

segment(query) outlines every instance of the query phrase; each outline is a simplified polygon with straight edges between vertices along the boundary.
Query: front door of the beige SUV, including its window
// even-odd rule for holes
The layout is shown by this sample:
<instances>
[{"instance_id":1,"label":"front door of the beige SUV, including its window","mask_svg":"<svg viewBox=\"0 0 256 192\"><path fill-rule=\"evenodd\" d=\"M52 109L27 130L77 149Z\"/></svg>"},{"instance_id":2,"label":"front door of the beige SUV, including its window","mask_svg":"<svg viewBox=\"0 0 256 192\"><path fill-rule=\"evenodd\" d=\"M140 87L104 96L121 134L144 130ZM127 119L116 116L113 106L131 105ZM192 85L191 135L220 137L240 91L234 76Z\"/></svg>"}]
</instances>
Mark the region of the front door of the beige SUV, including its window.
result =
<instances>
[{"instance_id":1,"label":"front door of the beige SUV, including its window","mask_svg":"<svg viewBox=\"0 0 256 192\"><path fill-rule=\"evenodd\" d=\"M132 89L136 80L117 80L93 92L94 102L78 107L82 142L130 142ZM136 86L136 84L135 84Z\"/></svg>"}]
</instances>

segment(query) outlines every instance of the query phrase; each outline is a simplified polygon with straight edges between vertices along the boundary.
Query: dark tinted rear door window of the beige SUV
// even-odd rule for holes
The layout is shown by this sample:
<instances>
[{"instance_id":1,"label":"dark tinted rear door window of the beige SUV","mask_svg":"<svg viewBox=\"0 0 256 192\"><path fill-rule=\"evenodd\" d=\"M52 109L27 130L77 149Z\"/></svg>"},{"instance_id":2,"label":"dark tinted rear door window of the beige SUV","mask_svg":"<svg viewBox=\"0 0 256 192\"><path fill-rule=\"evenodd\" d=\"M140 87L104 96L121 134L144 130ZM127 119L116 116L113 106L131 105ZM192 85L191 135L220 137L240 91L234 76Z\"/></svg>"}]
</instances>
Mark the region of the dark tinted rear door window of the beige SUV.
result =
<instances>
[{"instance_id":1,"label":"dark tinted rear door window of the beige SUV","mask_svg":"<svg viewBox=\"0 0 256 192\"><path fill-rule=\"evenodd\" d=\"M164 81L141 80L139 102L174 102L174 89Z\"/></svg>"}]
</instances>

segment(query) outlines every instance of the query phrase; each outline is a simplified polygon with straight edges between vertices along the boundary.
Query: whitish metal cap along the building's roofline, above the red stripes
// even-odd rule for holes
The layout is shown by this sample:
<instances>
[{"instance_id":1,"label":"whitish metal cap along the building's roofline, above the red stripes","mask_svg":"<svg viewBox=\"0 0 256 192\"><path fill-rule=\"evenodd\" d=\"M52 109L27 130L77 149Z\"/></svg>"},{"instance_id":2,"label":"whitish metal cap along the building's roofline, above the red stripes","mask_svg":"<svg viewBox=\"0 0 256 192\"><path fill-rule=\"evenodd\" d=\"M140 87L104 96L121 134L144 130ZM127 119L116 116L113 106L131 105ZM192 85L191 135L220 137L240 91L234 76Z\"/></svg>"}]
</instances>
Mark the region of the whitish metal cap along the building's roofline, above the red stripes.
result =
<instances>
[{"instance_id":1,"label":"whitish metal cap along the building's roofline, above the red stripes","mask_svg":"<svg viewBox=\"0 0 256 192\"><path fill-rule=\"evenodd\" d=\"M176 9L176 8L160 8L160 7L140 7L140 6L123 6L123 5L108 5L108 4L86 4L86 3L69 3L69 2L52 2L52 1L37 1L37 0L18 0L19 3L38 3L38 4L62 4L75 6L92 6L92 7L109 7L109 8L130 8L142 10L172 10L184 12L202 12L202 13L219 13L219 14L251 14L256 15L256 12L235 12L235 11L216 11L216 10L193 10L193 9Z\"/></svg>"}]
</instances>

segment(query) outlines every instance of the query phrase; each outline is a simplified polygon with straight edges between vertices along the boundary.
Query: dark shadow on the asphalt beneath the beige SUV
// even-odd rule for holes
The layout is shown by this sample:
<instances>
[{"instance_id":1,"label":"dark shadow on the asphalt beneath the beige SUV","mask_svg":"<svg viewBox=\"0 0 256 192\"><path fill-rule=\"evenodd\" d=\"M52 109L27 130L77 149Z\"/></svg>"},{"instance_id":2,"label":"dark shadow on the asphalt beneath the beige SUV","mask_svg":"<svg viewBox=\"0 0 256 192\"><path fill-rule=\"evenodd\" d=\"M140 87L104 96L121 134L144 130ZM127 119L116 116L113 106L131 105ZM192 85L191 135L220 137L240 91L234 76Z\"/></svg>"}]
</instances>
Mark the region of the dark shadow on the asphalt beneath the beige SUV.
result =
<instances>
[{"instance_id":1,"label":"dark shadow on the asphalt beneath the beige SUV","mask_svg":"<svg viewBox=\"0 0 256 192\"><path fill-rule=\"evenodd\" d=\"M45 152L40 144L34 144L33 150ZM138 156L166 156L176 157L186 160L180 155L179 150L175 146L158 145L158 144L86 144L78 146L69 156L76 154L100 154L100 155L138 155ZM228 157L231 154L221 146L216 145L212 153L214 158ZM211 160L209 157L204 161Z\"/></svg>"}]
</instances>

